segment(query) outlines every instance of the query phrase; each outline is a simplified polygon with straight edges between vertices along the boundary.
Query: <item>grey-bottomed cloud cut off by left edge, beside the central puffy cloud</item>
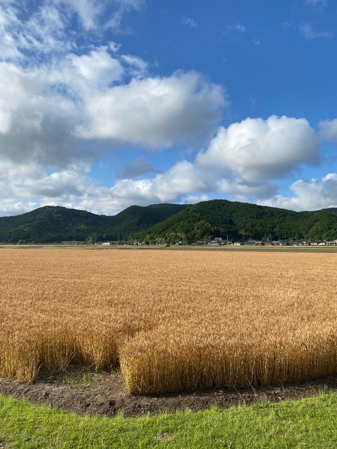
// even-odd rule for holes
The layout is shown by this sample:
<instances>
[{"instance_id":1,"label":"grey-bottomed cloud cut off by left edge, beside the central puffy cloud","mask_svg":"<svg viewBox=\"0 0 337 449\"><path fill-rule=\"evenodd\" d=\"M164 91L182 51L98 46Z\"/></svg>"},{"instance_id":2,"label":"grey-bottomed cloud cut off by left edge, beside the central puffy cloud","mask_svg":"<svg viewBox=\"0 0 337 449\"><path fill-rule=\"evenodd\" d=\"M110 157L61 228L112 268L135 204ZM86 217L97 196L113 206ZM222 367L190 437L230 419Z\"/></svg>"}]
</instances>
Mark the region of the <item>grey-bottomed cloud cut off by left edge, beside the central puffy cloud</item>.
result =
<instances>
[{"instance_id":1,"label":"grey-bottomed cloud cut off by left edge, beside the central puffy cloud","mask_svg":"<svg viewBox=\"0 0 337 449\"><path fill-rule=\"evenodd\" d=\"M51 89L47 77L43 69L24 71L0 63L2 157L65 166L88 156L72 136L81 117L76 103Z\"/></svg>"}]
</instances>

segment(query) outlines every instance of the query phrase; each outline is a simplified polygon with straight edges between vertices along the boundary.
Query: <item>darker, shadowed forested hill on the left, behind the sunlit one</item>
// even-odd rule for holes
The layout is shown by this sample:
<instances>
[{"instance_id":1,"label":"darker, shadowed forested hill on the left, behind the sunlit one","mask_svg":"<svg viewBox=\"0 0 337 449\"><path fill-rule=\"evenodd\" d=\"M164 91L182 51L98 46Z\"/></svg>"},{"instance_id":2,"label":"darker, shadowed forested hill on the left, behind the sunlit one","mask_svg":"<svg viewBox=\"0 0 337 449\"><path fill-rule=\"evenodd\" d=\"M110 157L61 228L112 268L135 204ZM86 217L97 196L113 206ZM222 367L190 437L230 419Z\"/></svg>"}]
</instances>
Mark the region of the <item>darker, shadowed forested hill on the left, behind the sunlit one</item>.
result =
<instances>
[{"instance_id":1,"label":"darker, shadowed forested hill on the left, behind the sunlit one","mask_svg":"<svg viewBox=\"0 0 337 449\"><path fill-rule=\"evenodd\" d=\"M0 217L0 242L58 242L128 239L141 229L166 220L185 209L186 205L155 204L131 206L115 216L60 206L44 206L14 217Z\"/></svg>"}]
</instances>

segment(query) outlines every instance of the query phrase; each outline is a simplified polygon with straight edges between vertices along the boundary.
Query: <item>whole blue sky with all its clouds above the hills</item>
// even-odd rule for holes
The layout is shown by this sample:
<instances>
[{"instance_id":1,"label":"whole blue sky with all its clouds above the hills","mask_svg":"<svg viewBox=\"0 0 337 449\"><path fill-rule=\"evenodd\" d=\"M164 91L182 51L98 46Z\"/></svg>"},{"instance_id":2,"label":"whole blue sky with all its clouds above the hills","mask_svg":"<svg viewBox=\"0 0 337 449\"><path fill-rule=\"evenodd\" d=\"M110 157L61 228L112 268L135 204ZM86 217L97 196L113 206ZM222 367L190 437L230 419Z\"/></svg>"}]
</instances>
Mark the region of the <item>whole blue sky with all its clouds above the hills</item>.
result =
<instances>
[{"instance_id":1,"label":"whole blue sky with all its clouds above the hills","mask_svg":"<svg viewBox=\"0 0 337 449\"><path fill-rule=\"evenodd\" d=\"M0 215L337 207L333 0L2 0Z\"/></svg>"}]
</instances>

